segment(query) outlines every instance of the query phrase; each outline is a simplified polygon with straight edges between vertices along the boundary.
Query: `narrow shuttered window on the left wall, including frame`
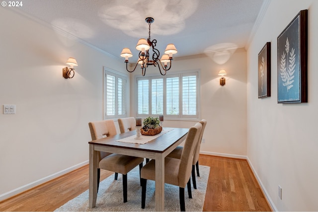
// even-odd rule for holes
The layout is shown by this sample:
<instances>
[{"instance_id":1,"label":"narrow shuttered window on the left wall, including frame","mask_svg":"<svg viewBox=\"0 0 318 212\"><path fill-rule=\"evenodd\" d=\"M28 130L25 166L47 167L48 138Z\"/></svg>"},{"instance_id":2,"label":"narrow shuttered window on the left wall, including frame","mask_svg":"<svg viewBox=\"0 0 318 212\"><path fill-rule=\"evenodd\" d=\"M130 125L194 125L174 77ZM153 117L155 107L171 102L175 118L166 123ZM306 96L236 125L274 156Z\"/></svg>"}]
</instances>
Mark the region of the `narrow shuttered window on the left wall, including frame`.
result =
<instances>
[{"instance_id":1,"label":"narrow shuttered window on the left wall, including frame","mask_svg":"<svg viewBox=\"0 0 318 212\"><path fill-rule=\"evenodd\" d=\"M127 76L104 68L104 118L127 116Z\"/></svg>"}]
</instances>

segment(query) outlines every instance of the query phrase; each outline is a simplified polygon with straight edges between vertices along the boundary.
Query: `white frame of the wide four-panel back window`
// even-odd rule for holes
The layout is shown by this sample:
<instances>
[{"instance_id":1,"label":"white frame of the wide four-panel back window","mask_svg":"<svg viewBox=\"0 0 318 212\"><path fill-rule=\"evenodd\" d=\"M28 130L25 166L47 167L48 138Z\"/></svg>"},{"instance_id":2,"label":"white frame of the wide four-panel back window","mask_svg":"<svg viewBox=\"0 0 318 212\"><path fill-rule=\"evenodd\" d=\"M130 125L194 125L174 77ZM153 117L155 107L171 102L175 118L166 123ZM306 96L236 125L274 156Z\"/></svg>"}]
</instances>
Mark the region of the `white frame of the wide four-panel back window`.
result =
<instances>
[{"instance_id":1,"label":"white frame of the wide four-panel back window","mask_svg":"<svg viewBox=\"0 0 318 212\"><path fill-rule=\"evenodd\" d=\"M183 76L197 76L197 90L196 90L196 115L183 115L182 114L182 77ZM166 78L170 78L173 76L179 77L179 114L178 115L166 115ZM137 117L148 117L148 116L159 116L158 114L152 114L152 79L155 78L163 78L163 115L165 120L200 120L200 71L199 70L192 70L192 71L179 71L179 72L172 72L171 74L166 74L164 76L158 74L152 74L148 76L141 76L136 75L136 114ZM148 79L149 80L149 114L139 114L138 113L138 79Z\"/></svg>"}]
</instances>

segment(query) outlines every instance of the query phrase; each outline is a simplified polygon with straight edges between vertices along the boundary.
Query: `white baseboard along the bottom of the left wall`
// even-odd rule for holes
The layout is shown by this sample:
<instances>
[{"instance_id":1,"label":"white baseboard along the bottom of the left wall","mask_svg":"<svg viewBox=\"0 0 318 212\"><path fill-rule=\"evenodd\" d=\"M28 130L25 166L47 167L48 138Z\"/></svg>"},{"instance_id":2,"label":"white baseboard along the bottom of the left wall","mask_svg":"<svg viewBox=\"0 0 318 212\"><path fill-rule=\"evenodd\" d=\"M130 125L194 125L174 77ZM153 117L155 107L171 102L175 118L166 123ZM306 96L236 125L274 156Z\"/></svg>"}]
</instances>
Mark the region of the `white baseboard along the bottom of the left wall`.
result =
<instances>
[{"instance_id":1,"label":"white baseboard along the bottom of the left wall","mask_svg":"<svg viewBox=\"0 0 318 212\"><path fill-rule=\"evenodd\" d=\"M38 185L40 185L42 183L45 183L45 182L47 182L49 180L52 180L54 178L60 177L60 176L62 176L64 174L66 174L68 172L71 172L71 171L73 171L75 169L78 169L78 168L80 168L80 167L82 167L82 166L84 166L86 164L88 164L88 160L86 160L84 162L81 162L81 163L79 163L77 165L71 166L69 168L66 168L66 169L64 169L62 171L56 172L54 174L51 174L49 176L46 176L46 177L44 177L42 179L36 180L36 181L34 181L32 183L29 183L29 184L26 184L26 185L21 186L19 188L13 189L13 190L11 190L9 192L6 192L4 194L1 194L0 195L0 201L5 200L7 198L10 198L10 197L12 197L12 196L14 196L16 194L22 193L22 192L24 192L24 191L26 191L28 189L31 189L31 188L33 188L35 186L38 186Z\"/></svg>"}]
</instances>

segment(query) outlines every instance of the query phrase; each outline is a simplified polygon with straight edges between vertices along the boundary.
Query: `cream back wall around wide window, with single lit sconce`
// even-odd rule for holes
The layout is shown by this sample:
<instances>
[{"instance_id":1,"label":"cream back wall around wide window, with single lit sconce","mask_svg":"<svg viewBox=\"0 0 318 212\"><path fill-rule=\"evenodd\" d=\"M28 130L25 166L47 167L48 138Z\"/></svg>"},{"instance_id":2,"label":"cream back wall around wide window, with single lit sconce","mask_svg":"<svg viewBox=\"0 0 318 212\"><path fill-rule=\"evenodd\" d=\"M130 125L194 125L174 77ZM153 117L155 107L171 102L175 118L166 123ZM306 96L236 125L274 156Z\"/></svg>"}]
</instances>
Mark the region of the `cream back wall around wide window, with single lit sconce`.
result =
<instances>
[{"instance_id":1,"label":"cream back wall around wide window, with single lit sconce","mask_svg":"<svg viewBox=\"0 0 318 212\"><path fill-rule=\"evenodd\" d=\"M163 44L164 45L164 44ZM134 54L134 53L133 53ZM221 69L227 71L226 85L220 86ZM199 70L201 88L201 117L207 120L203 135L206 142L201 144L201 153L246 155L246 51L237 50L228 62L218 65L210 57L189 57L175 59L170 72ZM141 71L133 72L140 75ZM146 75L159 73L151 67ZM135 83L131 83L131 114L136 116ZM188 128L193 121L167 121L166 127Z\"/></svg>"}]
</instances>

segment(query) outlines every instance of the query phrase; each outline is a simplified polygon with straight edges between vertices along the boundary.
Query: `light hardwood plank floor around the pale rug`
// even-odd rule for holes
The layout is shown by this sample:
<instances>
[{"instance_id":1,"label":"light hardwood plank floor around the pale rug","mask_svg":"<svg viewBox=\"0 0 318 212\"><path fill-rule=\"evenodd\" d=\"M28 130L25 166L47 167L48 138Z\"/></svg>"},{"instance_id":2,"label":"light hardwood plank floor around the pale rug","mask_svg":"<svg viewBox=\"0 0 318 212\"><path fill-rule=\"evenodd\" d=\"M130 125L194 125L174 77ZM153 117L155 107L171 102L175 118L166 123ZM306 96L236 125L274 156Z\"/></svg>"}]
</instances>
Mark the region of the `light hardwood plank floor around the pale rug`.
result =
<instances>
[{"instance_id":1,"label":"light hardwood plank floor around the pale rug","mask_svg":"<svg viewBox=\"0 0 318 212\"><path fill-rule=\"evenodd\" d=\"M203 211L271 211L246 160L200 155L210 166ZM113 172L101 170L101 180ZM0 211L54 211L88 189L88 165L0 202Z\"/></svg>"}]
</instances>

